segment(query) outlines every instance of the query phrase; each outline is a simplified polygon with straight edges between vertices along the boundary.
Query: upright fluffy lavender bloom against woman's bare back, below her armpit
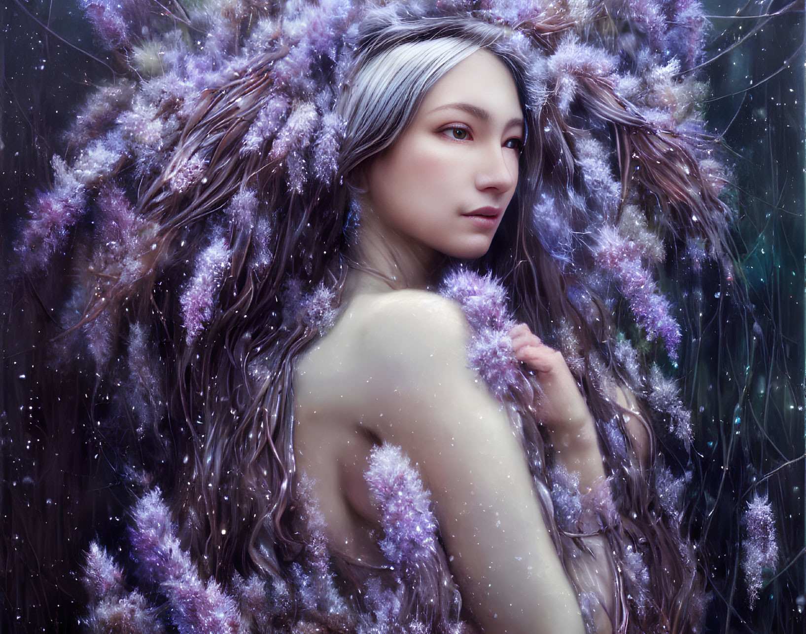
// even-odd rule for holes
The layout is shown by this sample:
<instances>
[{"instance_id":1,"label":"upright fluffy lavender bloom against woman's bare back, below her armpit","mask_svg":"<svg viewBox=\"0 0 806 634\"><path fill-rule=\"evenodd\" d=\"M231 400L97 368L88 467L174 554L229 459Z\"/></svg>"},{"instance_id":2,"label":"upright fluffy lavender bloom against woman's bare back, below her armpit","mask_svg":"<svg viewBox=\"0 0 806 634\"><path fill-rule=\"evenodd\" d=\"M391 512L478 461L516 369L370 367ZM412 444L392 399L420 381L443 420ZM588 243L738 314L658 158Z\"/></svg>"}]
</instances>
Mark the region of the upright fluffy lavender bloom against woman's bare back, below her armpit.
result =
<instances>
[{"instance_id":1,"label":"upright fluffy lavender bloom against woman's bare back, below her armpit","mask_svg":"<svg viewBox=\"0 0 806 634\"><path fill-rule=\"evenodd\" d=\"M394 564L416 565L437 548L437 521L430 511L430 491L400 447L384 443L372 448L364 479L376 505L384 539L380 549Z\"/></svg>"}]
</instances>

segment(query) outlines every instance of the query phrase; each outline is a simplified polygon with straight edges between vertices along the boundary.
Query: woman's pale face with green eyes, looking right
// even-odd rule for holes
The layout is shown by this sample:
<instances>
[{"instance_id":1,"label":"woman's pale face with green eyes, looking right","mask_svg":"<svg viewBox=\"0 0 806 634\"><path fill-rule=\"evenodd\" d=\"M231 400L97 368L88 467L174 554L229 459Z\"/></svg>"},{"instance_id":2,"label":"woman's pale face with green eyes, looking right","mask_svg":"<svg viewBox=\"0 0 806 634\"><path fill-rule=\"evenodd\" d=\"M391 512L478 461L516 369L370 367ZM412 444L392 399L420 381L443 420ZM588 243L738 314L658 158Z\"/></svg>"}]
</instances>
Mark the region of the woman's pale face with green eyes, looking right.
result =
<instances>
[{"instance_id":1,"label":"woman's pale face with green eyes, looking right","mask_svg":"<svg viewBox=\"0 0 806 634\"><path fill-rule=\"evenodd\" d=\"M509 69L476 51L434 84L409 127L368 166L364 205L390 239L481 257L515 192L523 138Z\"/></svg>"}]
</instances>

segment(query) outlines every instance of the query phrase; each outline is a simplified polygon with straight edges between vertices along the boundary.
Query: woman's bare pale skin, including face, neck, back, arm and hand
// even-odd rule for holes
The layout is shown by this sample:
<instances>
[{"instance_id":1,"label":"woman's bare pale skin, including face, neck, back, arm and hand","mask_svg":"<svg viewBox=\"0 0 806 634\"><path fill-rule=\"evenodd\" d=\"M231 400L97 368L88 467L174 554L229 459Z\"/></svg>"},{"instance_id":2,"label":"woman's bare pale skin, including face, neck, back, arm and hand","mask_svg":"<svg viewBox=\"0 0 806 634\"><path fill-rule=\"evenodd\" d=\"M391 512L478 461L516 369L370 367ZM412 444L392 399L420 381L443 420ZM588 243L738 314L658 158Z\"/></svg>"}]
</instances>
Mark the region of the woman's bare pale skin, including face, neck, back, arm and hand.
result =
<instances>
[{"instance_id":1,"label":"woman's bare pale skin, including face, neck, back, arm and hand","mask_svg":"<svg viewBox=\"0 0 806 634\"><path fill-rule=\"evenodd\" d=\"M385 562L364 471L372 445L388 441L430 489L451 572L482 632L581 633L521 446L467 368L467 321L429 286L444 255L488 250L517 185L523 135L514 81L481 50L434 85L400 139L359 175L353 255L362 266L347 277L339 320L297 364L294 450L334 551ZM535 407L557 460L580 472L580 488L592 486L605 474L594 421L562 355L525 324L510 336L542 386ZM629 395L615 396L634 409ZM646 446L636 425L634 444Z\"/></svg>"}]
</instances>

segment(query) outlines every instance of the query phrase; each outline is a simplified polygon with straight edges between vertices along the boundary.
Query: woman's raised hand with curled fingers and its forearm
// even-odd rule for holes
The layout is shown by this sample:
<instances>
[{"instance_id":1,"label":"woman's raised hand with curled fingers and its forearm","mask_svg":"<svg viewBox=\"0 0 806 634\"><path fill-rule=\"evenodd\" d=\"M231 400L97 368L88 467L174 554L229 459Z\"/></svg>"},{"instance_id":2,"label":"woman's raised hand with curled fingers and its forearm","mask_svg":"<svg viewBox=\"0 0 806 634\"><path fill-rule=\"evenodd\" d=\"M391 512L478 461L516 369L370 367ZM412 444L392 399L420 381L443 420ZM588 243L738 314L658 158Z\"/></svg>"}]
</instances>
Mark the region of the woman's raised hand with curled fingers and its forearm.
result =
<instances>
[{"instance_id":1,"label":"woman's raised hand with curled fingers and its forearm","mask_svg":"<svg viewBox=\"0 0 806 634\"><path fill-rule=\"evenodd\" d=\"M537 373L542 396L535 403L538 419L549 430L557 460L580 472L580 488L604 475L596 440L596 423L563 355L519 323L509 331L515 358Z\"/></svg>"}]
</instances>

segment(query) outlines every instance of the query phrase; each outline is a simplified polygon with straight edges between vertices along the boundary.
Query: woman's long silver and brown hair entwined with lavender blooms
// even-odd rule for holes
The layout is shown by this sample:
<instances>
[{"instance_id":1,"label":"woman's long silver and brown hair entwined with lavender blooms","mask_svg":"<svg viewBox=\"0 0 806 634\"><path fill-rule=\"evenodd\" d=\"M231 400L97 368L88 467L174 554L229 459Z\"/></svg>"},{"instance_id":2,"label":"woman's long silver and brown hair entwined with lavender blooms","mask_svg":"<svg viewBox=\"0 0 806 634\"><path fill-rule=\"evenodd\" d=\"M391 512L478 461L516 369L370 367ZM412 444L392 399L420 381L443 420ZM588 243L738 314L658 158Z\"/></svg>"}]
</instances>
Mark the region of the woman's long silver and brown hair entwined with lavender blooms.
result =
<instances>
[{"instance_id":1,"label":"woman's long silver and brown hair entwined with lavender blooms","mask_svg":"<svg viewBox=\"0 0 806 634\"><path fill-rule=\"evenodd\" d=\"M547 52L584 52L562 12L503 26L467 10L387 6L363 15L356 32L348 28L355 9L330 8L319 26L335 40L317 40L316 29L276 36L268 15L260 33L271 44L251 40L196 102L162 86L159 151L122 156L89 180L89 207L114 222L77 260L79 317L64 323L60 341L88 358L98 376L93 399L114 395L116 415L131 423L135 461L164 491L203 574L288 576L303 549L294 524L293 369L322 334L321 316L339 307L355 222L351 173L397 140L439 77L484 48L512 73L528 135L489 252L462 265L499 278L517 318L573 360L621 511L609 533L615 561L640 552L651 579L640 623L621 614L613 624L691 630L700 582L690 546L659 498L662 469L639 464L625 412L610 398L613 382L628 386L650 421L646 384L615 349L613 308L598 298L607 281L578 267L596 258L587 227L617 226L629 206L646 206L671 240L724 251L725 208L697 148L646 119L601 65L565 75L548 68ZM149 133L136 115L118 119L123 141ZM621 183L617 204L580 169L607 145L617 148L604 161ZM77 155L88 148L91 140ZM556 544L561 554L580 548L550 511L538 421L526 407L521 416L541 458L530 466L545 485ZM617 591L625 605L627 590Z\"/></svg>"}]
</instances>

